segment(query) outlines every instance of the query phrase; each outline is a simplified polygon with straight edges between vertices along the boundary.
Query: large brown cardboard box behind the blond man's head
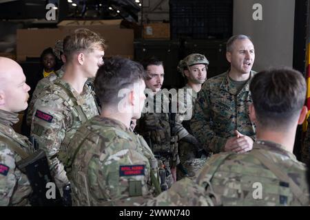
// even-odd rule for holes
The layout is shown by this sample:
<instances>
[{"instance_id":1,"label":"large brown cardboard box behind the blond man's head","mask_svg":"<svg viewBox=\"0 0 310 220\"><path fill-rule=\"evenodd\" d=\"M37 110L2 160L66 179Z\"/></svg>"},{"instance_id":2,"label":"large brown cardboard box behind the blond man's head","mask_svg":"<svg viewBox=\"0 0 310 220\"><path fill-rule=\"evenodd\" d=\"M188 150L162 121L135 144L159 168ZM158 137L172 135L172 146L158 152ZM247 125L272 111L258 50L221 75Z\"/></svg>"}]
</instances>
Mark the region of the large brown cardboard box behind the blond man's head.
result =
<instances>
[{"instance_id":1,"label":"large brown cardboard box behind the blond man's head","mask_svg":"<svg viewBox=\"0 0 310 220\"><path fill-rule=\"evenodd\" d=\"M100 34L105 43L105 57L134 57L134 30L120 28L121 20L111 21L62 21L54 29L17 30L17 61L25 61L28 57L39 57L47 47L78 28L88 28Z\"/></svg>"}]
</instances>

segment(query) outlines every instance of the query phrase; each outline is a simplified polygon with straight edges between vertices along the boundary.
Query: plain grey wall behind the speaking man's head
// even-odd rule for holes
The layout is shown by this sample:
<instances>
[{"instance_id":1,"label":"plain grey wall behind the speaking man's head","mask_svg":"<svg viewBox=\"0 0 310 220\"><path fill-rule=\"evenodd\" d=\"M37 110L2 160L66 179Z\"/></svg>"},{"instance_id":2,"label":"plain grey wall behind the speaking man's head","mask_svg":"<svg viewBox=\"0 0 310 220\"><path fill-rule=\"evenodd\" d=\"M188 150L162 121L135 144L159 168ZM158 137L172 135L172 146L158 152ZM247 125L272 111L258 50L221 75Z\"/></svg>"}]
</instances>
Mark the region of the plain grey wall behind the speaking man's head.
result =
<instances>
[{"instance_id":1,"label":"plain grey wall behind the speaking man's head","mask_svg":"<svg viewBox=\"0 0 310 220\"><path fill-rule=\"evenodd\" d=\"M262 5L262 21L252 9ZM234 34L251 36L256 50L254 70L293 65L295 0L234 0Z\"/></svg>"}]
</instances>

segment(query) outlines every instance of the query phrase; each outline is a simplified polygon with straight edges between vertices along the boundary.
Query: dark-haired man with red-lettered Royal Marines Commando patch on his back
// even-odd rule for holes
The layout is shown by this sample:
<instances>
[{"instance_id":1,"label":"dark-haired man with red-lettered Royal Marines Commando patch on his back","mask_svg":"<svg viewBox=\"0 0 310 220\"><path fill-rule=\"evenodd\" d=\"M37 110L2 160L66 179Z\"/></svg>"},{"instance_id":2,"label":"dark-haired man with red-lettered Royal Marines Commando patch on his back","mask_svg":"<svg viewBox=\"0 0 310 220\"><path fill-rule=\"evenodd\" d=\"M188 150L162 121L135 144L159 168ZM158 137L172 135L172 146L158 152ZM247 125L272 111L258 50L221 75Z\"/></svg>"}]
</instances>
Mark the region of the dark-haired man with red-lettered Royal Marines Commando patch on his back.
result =
<instances>
[{"instance_id":1,"label":"dark-haired man with red-lettered Royal Marines Commando patch on his back","mask_svg":"<svg viewBox=\"0 0 310 220\"><path fill-rule=\"evenodd\" d=\"M76 131L65 162L75 206L138 206L161 191L156 158L130 127L141 117L144 77L142 65L125 58L99 68L101 115Z\"/></svg>"}]
</instances>

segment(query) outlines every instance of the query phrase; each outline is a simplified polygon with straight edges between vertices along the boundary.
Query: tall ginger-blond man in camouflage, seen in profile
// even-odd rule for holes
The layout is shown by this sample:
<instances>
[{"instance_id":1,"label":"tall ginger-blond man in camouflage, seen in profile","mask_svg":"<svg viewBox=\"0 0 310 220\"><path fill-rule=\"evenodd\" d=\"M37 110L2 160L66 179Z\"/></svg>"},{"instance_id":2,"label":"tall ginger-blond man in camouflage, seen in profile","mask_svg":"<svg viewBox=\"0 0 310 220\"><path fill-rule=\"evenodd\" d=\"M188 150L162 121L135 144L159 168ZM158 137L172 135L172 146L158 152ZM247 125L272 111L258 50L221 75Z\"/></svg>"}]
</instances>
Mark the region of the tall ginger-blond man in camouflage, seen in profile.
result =
<instances>
[{"instance_id":1,"label":"tall ginger-blond man in camouflage, seen in profile","mask_svg":"<svg viewBox=\"0 0 310 220\"><path fill-rule=\"evenodd\" d=\"M103 65L105 44L101 36L85 28L63 40L65 72L37 98L33 107L31 135L48 159L59 188L69 184L61 163L76 129L99 109L92 91L85 84Z\"/></svg>"}]
</instances>

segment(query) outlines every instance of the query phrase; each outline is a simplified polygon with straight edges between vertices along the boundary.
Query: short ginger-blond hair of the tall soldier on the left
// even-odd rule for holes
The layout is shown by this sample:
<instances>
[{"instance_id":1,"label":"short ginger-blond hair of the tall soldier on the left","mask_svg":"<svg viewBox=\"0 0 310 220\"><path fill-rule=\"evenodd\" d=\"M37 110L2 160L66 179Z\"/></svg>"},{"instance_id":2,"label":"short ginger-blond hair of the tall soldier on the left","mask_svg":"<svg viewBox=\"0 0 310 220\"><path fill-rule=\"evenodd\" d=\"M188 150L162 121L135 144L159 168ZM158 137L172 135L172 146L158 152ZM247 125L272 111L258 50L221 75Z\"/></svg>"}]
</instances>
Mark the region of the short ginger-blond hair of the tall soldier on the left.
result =
<instances>
[{"instance_id":1,"label":"short ginger-blond hair of the tall soldier on the left","mask_svg":"<svg viewBox=\"0 0 310 220\"><path fill-rule=\"evenodd\" d=\"M63 39L63 54L70 60L76 52L93 52L94 49L105 50L105 41L99 34L79 28Z\"/></svg>"}]
</instances>

